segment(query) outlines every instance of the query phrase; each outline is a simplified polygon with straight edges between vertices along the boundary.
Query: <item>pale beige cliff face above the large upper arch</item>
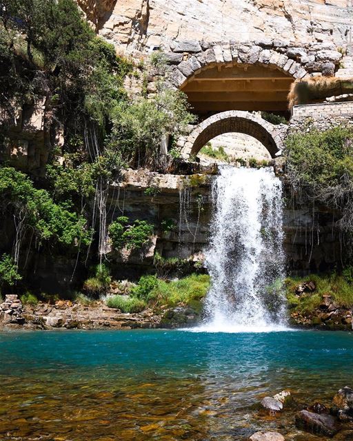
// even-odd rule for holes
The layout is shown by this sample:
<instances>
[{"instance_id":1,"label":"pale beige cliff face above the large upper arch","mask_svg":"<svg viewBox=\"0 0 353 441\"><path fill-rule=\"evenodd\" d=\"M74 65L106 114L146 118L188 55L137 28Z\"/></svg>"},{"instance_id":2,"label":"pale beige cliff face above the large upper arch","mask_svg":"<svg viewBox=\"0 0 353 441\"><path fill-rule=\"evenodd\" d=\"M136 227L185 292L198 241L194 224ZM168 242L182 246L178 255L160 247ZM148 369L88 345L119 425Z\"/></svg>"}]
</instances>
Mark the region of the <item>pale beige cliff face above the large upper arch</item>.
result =
<instances>
[{"instance_id":1,"label":"pale beige cliff face above the large upper arch","mask_svg":"<svg viewBox=\"0 0 353 441\"><path fill-rule=\"evenodd\" d=\"M100 34L129 52L177 47L175 40L203 41L207 48L210 41L225 40L258 41L266 47L269 39L324 43L321 50L330 51L332 43L345 46L350 28L348 0L78 1L93 23L100 22ZM303 50L292 50L290 55L307 56Z\"/></svg>"}]
</instances>

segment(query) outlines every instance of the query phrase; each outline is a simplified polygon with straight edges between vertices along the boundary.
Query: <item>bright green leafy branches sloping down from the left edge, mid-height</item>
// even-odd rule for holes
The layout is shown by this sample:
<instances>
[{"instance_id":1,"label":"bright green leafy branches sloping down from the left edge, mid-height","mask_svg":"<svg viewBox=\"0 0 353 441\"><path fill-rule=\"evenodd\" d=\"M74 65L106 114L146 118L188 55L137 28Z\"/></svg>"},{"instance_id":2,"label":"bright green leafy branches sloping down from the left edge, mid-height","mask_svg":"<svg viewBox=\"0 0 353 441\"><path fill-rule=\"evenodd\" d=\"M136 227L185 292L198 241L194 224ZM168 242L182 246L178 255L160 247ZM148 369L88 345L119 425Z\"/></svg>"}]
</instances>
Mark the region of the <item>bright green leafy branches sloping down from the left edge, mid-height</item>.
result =
<instances>
[{"instance_id":1,"label":"bright green leafy branches sloping down from the left edge, mid-height","mask_svg":"<svg viewBox=\"0 0 353 441\"><path fill-rule=\"evenodd\" d=\"M21 212L40 242L54 240L65 247L90 243L86 220L70 203L54 203L46 190L34 188L26 174L12 167L0 167L0 204Z\"/></svg>"}]
</instances>

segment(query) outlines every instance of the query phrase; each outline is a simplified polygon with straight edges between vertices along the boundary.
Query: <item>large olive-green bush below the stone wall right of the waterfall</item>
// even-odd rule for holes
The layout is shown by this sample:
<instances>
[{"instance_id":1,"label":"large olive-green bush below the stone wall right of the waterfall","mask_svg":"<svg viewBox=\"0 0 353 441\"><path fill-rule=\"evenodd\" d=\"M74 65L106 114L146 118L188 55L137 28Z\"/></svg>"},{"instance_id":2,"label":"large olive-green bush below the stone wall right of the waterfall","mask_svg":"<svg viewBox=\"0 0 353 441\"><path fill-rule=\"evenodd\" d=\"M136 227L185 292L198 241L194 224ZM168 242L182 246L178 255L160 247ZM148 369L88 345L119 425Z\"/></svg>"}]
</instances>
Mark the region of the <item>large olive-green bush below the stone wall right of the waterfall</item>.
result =
<instances>
[{"instance_id":1,"label":"large olive-green bush below the stone wall right of the waterfall","mask_svg":"<svg viewBox=\"0 0 353 441\"><path fill-rule=\"evenodd\" d=\"M353 230L353 129L310 130L286 140L288 177L308 198L340 209L341 227Z\"/></svg>"}]
</instances>

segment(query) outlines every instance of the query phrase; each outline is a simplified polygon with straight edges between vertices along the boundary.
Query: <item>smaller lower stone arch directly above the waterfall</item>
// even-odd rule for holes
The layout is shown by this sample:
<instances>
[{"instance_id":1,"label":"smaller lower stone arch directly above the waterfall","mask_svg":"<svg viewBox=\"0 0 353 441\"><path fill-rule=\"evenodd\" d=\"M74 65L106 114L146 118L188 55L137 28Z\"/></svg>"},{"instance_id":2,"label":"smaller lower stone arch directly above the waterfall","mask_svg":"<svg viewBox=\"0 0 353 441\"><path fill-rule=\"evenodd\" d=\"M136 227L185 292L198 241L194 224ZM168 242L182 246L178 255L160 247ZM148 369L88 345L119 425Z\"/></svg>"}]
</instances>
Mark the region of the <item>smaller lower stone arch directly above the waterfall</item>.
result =
<instances>
[{"instance_id":1,"label":"smaller lower stone arch directly above the waterfall","mask_svg":"<svg viewBox=\"0 0 353 441\"><path fill-rule=\"evenodd\" d=\"M230 110L210 116L183 139L179 140L181 156L188 159L196 156L199 150L214 137L238 132L248 134L260 141L268 150L272 158L283 147L283 138L287 133L287 125L273 125L265 121L261 116L241 110Z\"/></svg>"}]
</instances>

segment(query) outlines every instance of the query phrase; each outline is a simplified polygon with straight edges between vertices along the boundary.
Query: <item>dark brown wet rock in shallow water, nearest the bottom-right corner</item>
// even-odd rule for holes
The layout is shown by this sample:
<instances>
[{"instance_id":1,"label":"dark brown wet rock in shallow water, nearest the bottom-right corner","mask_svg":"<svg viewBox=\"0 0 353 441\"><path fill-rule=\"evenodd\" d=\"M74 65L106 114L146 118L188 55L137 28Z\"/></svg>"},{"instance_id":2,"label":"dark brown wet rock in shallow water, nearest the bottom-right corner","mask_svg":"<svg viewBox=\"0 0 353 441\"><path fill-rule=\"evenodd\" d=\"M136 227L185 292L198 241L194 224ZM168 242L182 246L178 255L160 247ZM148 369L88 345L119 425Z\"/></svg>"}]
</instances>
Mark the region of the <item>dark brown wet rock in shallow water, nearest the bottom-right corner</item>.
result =
<instances>
[{"instance_id":1,"label":"dark brown wet rock in shallow water, nearest the bottom-right corner","mask_svg":"<svg viewBox=\"0 0 353 441\"><path fill-rule=\"evenodd\" d=\"M336 418L331 415L313 413L303 410L296 414L295 425L316 435L325 435L332 437L337 431Z\"/></svg>"}]
</instances>

